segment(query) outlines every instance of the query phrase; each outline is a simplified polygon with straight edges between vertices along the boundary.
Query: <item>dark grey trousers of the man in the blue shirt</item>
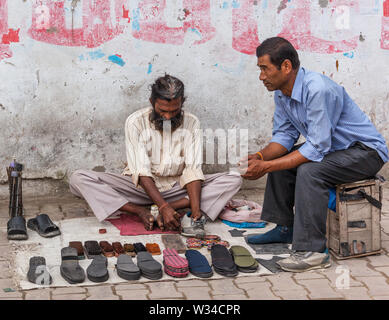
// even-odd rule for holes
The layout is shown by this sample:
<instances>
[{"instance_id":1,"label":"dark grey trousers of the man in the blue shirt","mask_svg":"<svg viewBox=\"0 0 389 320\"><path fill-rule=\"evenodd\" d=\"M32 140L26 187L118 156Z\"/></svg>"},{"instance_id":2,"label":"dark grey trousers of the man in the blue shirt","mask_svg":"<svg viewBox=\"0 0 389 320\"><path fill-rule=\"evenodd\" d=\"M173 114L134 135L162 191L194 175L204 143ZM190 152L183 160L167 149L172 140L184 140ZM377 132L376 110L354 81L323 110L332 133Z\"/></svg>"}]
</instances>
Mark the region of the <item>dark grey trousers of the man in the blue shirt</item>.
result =
<instances>
[{"instance_id":1,"label":"dark grey trousers of the man in the blue shirt","mask_svg":"<svg viewBox=\"0 0 389 320\"><path fill-rule=\"evenodd\" d=\"M298 147L293 147L291 152ZM262 219L293 226L293 250L323 252L328 189L340 183L371 178L383 164L377 151L357 143L347 150L328 154L321 162L269 173Z\"/></svg>"}]
</instances>

